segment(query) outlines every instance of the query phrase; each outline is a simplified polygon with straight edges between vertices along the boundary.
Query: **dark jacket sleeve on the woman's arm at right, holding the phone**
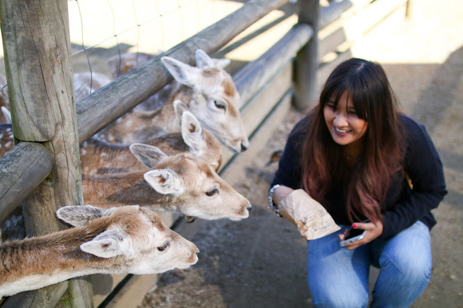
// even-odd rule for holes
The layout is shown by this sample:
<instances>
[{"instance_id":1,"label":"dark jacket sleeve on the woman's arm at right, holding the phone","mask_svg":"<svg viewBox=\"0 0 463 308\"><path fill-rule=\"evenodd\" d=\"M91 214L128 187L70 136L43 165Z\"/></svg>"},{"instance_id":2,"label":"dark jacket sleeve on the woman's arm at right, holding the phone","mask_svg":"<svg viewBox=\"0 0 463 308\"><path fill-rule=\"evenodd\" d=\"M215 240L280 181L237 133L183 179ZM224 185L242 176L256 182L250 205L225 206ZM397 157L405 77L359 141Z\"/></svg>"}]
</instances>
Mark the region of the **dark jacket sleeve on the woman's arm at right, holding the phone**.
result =
<instances>
[{"instance_id":1,"label":"dark jacket sleeve on the woman's arm at right, holding the phone","mask_svg":"<svg viewBox=\"0 0 463 308\"><path fill-rule=\"evenodd\" d=\"M444 168L439 154L423 125L401 116L406 139L404 171L412 181L407 197L383 213L381 237L396 235L437 208L447 193Z\"/></svg>"}]
</instances>

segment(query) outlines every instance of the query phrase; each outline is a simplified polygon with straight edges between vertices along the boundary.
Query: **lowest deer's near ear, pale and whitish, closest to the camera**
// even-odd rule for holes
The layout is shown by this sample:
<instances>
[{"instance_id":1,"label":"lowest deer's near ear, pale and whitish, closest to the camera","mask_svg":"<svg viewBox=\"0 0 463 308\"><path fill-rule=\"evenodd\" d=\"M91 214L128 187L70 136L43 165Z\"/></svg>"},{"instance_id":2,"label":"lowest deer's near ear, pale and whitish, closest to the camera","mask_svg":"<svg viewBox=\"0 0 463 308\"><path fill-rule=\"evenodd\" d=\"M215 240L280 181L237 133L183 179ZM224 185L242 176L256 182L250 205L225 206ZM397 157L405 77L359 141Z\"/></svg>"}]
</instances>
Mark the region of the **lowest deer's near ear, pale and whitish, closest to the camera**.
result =
<instances>
[{"instance_id":1,"label":"lowest deer's near ear, pale and whitish, closest to the camera","mask_svg":"<svg viewBox=\"0 0 463 308\"><path fill-rule=\"evenodd\" d=\"M108 258L117 255L129 257L135 251L131 249L126 237L126 233L121 228L111 228L96 235L91 241L81 244L81 249L97 257Z\"/></svg>"}]
</instances>

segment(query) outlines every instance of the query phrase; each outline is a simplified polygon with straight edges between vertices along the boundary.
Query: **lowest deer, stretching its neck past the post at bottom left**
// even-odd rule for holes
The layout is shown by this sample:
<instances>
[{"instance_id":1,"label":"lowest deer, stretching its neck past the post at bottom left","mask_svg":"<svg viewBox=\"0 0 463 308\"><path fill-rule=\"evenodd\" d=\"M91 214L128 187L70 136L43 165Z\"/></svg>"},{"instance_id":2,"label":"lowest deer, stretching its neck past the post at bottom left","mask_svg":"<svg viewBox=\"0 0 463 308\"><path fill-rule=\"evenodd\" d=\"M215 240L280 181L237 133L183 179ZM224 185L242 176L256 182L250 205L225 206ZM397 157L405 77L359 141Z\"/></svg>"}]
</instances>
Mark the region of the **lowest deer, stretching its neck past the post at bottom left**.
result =
<instances>
[{"instance_id":1,"label":"lowest deer, stretching its neck past the post at bottom left","mask_svg":"<svg viewBox=\"0 0 463 308\"><path fill-rule=\"evenodd\" d=\"M198 262L199 249L147 208L64 206L56 216L74 228L0 246L0 298L83 275L164 273Z\"/></svg>"}]
</instances>

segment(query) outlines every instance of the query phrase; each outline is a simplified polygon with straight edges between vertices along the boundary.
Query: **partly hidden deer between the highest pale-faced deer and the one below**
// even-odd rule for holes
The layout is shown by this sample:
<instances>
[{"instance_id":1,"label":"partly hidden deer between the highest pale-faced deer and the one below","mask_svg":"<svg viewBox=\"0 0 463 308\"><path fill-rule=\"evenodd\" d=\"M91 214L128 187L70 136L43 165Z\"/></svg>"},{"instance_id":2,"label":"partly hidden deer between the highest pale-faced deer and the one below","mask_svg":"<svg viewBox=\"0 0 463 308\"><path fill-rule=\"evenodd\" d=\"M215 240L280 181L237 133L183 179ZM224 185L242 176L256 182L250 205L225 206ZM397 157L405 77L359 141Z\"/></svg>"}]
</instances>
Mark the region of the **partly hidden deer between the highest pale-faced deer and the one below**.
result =
<instances>
[{"instance_id":1,"label":"partly hidden deer between the highest pale-faced deer and the one below","mask_svg":"<svg viewBox=\"0 0 463 308\"><path fill-rule=\"evenodd\" d=\"M160 148L167 155L189 152L217 172L221 165L220 141L208 130L202 129L183 102L177 100L174 106L180 118L181 133L151 138L146 144ZM90 138L81 146L81 167L84 174L90 175L146 170L132 154L129 145L108 143L98 138Z\"/></svg>"}]
</instances>

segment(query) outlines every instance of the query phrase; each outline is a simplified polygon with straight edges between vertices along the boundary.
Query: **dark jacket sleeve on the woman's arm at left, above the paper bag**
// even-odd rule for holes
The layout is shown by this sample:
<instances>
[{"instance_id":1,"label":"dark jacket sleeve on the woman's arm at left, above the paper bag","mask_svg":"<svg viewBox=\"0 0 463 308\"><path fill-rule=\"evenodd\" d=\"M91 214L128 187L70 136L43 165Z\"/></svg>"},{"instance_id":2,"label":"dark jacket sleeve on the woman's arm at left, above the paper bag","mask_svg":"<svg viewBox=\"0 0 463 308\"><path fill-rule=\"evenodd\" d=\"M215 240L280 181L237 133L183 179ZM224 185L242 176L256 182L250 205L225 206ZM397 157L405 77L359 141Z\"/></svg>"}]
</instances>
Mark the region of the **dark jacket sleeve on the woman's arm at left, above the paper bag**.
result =
<instances>
[{"instance_id":1,"label":"dark jacket sleeve on the woman's arm at left, above the paper bag","mask_svg":"<svg viewBox=\"0 0 463 308\"><path fill-rule=\"evenodd\" d=\"M289 133L271 186L280 184L293 189L301 188L301 147L305 137L301 127L305 127L306 118L296 123Z\"/></svg>"}]
</instances>

